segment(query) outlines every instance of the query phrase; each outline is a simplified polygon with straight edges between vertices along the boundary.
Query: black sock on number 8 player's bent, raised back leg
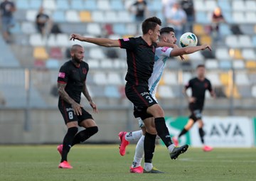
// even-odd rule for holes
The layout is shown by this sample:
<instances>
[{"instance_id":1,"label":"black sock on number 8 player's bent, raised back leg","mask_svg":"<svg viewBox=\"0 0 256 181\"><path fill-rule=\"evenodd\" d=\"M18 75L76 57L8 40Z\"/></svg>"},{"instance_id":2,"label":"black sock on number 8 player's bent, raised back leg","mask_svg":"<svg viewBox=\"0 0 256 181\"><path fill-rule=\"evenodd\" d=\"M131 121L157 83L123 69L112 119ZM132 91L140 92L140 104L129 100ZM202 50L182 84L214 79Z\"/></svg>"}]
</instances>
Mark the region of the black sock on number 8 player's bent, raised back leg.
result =
<instances>
[{"instance_id":1,"label":"black sock on number 8 player's bent, raised back leg","mask_svg":"<svg viewBox=\"0 0 256 181\"><path fill-rule=\"evenodd\" d=\"M79 133L77 133L75 135L75 138L73 139L73 143L71 146L74 146L75 144L82 143L82 142L86 141L92 135L97 133L97 131L98 131L97 126L86 128L85 130L80 131Z\"/></svg>"}]
</instances>

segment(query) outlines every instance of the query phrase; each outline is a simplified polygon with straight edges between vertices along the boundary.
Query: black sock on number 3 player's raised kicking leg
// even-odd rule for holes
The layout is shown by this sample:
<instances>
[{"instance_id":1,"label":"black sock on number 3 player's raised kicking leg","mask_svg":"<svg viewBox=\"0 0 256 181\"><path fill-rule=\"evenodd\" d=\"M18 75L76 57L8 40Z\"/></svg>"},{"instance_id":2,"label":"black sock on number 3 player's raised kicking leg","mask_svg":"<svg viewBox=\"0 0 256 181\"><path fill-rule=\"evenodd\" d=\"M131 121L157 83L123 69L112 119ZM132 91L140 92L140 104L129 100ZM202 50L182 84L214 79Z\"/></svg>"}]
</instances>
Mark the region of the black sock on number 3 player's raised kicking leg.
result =
<instances>
[{"instance_id":1,"label":"black sock on number 3 player's raised kicking leg","mask_svg":"<svg viewBox=\"0 0 256 181\"><path fill-rule=\"evenodd\" d=\"M156 118L154 120L154 122L156 125L156 131L157 131L158 136L164 142L166 147L169 147L172 144L172 142L171 142L171 136L170 136L169 130L166 127L164 117Z\"/></svg>"}]
</instances>

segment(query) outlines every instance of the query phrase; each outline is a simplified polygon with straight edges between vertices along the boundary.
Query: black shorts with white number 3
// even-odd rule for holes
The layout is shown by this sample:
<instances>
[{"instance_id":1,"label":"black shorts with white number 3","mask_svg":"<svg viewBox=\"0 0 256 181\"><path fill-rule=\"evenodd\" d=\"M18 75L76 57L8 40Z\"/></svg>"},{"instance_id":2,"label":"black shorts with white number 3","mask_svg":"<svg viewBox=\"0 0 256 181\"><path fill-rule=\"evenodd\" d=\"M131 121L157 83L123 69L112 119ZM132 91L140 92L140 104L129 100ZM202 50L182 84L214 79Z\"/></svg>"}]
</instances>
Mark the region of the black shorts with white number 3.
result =
<instances>
[{"instance_id":1,"label":"black shorts with white number 3","mask_svg":"<svg viewBox=\"0 0 256 181\"><path fill-rule=\"evenodd\" d=\"M156 100L149 93L146 86L125 85L125 94L127 98L134 104L134 116L140 117L142 120L152 117L146 112L149 106L157 104Z\"/></svg>"}]
</instances>

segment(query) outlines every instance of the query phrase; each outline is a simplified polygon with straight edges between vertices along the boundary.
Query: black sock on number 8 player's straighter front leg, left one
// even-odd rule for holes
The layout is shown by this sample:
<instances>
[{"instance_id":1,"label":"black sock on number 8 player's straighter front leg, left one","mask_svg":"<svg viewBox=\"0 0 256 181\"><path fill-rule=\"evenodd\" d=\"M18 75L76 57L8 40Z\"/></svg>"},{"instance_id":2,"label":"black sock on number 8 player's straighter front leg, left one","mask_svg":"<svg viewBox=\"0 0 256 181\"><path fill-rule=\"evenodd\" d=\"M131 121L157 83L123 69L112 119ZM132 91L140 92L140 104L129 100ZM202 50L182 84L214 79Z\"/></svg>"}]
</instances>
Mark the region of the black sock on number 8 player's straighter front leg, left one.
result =
<instances>
[{"instance_id":1,"label":"black sock on number 8 player's straighter front leg, left one","mask_svg":"<svg viewBox=\"0 0 256 181\"><path fill-rule=\"evenodd\" d=\"M66 133L64 139L63 139L63 153L61 155L61 161L67 161L68 152L71 148L73 138L75 137L75 134L78 133L77 127L68 128L68 132Z\"/></svg>"}]
</instances>

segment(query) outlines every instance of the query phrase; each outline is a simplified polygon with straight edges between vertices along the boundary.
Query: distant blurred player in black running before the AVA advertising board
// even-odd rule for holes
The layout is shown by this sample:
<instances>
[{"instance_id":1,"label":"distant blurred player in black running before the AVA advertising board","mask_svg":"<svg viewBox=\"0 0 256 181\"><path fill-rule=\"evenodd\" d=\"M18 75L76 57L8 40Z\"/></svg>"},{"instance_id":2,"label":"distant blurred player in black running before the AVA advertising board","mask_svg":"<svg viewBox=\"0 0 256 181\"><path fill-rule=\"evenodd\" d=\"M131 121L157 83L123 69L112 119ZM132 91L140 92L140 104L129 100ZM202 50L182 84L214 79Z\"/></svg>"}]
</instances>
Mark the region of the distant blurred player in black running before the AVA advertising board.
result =
<instances>
[{"instance_id":1,"label":"distant blurred player in black running before the AVA advertising board","mask_svg":"<svg viewBox=\"0 0 256 181\"><path fill-rule=\"evenodd\" d=\"M191 111L191 116L189 116L188 123L182 129L181 133L178 134L178 138L183 136L186 132L188 132L193 124L198 122L199 127L199 135L201 137L201 142L203 143L203 150L210 151L213 150L210 146L206 146L204 144L203 136L203 121L202 121L202 111L203 111L203 104L205 100L206 90L210 92L211 97L215 97L215 92L210 84L210 80L206 79L206 67L204 65L198 65L196 67L197 77L190 79L188 84L183 89L183 94L185 95L186 99L188 100L189 110ZM188 88L192 89L192 97L188 97L186 94L186 90ZM176 146L178 146L178 138L174 137L173 141Z\"/></svg>"}]
</instances>

